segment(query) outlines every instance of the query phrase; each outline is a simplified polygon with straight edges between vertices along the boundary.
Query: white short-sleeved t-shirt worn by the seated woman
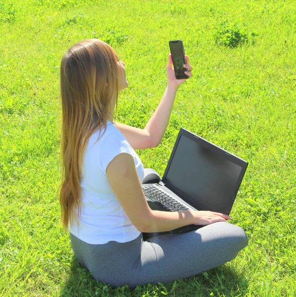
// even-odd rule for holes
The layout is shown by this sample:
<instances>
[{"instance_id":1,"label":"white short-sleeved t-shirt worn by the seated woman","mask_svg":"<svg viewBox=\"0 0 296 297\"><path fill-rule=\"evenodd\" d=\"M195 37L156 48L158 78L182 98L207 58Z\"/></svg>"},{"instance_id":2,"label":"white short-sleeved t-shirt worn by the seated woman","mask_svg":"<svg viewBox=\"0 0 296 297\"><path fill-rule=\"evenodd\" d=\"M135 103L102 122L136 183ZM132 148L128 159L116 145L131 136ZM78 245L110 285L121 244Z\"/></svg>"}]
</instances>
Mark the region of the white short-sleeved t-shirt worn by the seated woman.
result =
<instances>
[{"instance_id":1,"label":"white short-sleeved t-shirt worn by the seated woman","mask_svg":"<svg viewBox=\"0 0 296 297\"><path fill-rule=\"evenodd\" d=\"M95 132L88 141L81 180L82 207L80 228L74 221L69 231L82 241L98 245L109 241L125 243L134 240L140 232L131 223L109 184L106 168L112 159L126 152L134 157L140 182L144 178L143 164L124 135L110 121L103 136Z\"/></svg>"}]
</instances>

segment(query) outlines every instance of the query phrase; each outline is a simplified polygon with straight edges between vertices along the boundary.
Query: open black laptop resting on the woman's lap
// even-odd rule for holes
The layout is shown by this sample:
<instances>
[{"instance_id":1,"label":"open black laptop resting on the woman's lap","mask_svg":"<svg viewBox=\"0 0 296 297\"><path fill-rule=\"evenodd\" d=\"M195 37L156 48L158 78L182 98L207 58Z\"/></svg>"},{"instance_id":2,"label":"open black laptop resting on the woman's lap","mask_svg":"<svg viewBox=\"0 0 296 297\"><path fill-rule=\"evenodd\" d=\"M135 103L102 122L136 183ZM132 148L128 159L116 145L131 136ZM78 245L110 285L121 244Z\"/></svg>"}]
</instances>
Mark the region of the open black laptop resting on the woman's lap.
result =
<instances>
[{"instance_id":1,"label":"open black laptop resting on the woman's lap","mask_svg":"<svg viewBox=\"0 0 296 297\"><path fill-rule=\"evenodd\" d=\"M211 210L229 215L248 162L181 128L159 183L142 184L153 210ZM203 226L188 225L167 233Z\"/></svg>"}]
</instances>

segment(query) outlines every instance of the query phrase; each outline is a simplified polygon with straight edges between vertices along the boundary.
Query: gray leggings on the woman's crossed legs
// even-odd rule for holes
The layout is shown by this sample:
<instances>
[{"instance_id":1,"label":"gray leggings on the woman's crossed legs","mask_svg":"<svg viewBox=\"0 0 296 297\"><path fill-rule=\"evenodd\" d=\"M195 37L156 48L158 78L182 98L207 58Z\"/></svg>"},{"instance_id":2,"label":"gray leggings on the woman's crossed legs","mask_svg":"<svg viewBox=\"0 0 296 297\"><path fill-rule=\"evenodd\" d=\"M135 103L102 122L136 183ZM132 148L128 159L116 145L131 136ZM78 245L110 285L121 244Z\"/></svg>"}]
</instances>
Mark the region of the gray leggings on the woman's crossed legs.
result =
<instances>
[{"instance_id":1,"label":"gray leggings on the woman's crossed legs","mask_svg":"<svg viewBox=\"0 0 296 297\"><path fill-rule=\"evenodd\" d=\"M196 231L166 234L130 242L87 244L70 233L74 254L91 275L113 287L172 282L222 265L247 246L245 231L217 222Z\"/></svg>"}]
</instances>

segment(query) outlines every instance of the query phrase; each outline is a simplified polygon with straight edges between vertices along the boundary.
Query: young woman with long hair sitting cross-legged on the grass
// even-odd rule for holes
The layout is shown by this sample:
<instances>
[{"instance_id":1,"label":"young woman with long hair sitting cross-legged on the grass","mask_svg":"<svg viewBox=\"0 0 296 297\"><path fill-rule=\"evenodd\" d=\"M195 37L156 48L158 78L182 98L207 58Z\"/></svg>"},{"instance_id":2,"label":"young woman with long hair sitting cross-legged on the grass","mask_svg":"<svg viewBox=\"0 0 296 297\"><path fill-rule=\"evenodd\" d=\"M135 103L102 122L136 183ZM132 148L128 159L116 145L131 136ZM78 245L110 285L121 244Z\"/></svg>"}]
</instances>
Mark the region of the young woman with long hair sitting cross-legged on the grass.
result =
<instances>
[{"instance_id":1,"label":"young woman with long hair sitting cross-legged on the grass","mask_svg":"<svg viewBox=\"0 0 296 297\"><path fill-rule=\"evenodd\" d=\"M192 77L192 66L185 56ZM151 210L141 188L143 164L134 149L155 148L168 126L178 87L171 55L168 84L144 129L114 120L118 92L127 88L125 63L109 45L88 39L61 61L64 180L61 222L74 254L91 275L130 288L187 278L232 260L248 244L230 217L211 211ZM205 227L143 240L142 232Z\"/></svg>"}]
</instances>

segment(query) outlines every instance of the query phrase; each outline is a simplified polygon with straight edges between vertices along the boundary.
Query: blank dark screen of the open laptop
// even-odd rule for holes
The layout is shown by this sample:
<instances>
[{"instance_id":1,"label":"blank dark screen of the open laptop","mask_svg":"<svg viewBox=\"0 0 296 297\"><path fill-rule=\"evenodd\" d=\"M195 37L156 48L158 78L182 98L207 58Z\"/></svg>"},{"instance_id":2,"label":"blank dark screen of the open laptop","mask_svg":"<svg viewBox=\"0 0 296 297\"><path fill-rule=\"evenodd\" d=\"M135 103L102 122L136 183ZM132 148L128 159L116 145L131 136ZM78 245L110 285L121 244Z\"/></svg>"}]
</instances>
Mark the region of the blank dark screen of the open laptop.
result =
<instances>
[{"instance_id":1,"label":"blank dark screen of the open laptop","mask_svg":"<svg viewBox=\"0 0 296 297\"><path fill-rule=\"evenodd\" d=\"M181 136L173 155L166 183L198 210L229 214L242 167ZM169 187L169 185L168 185Z\"/></svg>"}]
</instances>

